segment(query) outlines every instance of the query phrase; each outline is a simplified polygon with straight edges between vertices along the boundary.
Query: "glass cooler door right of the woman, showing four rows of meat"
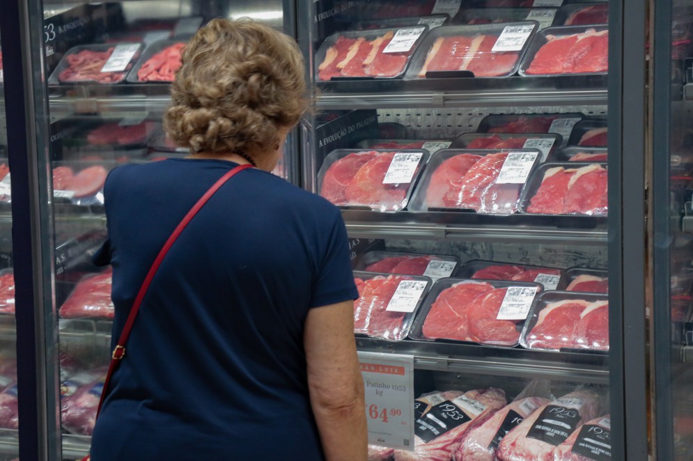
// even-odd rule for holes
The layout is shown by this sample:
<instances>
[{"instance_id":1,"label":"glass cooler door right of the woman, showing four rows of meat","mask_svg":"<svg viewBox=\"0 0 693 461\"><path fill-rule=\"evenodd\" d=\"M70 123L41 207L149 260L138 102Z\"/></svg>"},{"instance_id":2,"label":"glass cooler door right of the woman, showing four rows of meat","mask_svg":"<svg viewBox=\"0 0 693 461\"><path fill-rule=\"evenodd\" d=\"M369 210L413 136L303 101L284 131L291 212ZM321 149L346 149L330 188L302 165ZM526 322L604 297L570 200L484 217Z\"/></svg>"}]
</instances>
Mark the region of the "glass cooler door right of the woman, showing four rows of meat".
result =
<instances>
[{"instance_id":1,"label":"glass cooler door right of the woman, showing four rows of meat","mask_svg":"<svg viewBox=\"0 0 693 461\"><path fill-rule=\"evenodd\" d=\"M423 399L389 418L413 441L369 411L373 459L437 437L446 459L645 459L644 5L316 0L299 31L304 185L352 238L359 350L413 356ZM498 416L463 439L444 405Z\"/></svg>"}]
</instances>

